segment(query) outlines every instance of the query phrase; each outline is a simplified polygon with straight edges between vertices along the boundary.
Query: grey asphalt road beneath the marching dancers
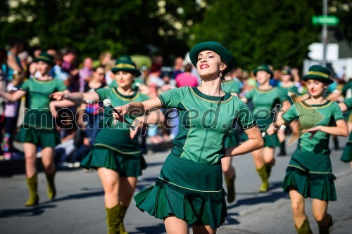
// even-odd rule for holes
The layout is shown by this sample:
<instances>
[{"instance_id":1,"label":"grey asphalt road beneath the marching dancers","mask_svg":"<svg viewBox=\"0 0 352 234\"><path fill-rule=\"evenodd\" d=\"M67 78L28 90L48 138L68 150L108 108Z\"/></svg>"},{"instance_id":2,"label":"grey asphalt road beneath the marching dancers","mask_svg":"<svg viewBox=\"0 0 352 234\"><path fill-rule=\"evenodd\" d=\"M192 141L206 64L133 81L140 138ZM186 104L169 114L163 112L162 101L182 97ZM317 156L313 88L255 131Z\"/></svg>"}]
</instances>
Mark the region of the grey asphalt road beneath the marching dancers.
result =
<instances>
[{"instance_id":1,"label":"grey asphalt road beneath the marching dancers","mask_svg":"<svg viewBox=\"0 0 352 234\"><path fill-rule=\"evenodd\" d=\"M339 139L341 149L333 150L331 155L333 171L337 176L335 184L338 200L330 202L329 213L335 220L333 233L345 234L352 232L352 171L349 164L339 161L346 138ZM296 145L289 146L289 155L295 147ZM153 185L165 157L170 152L168 147L155 149L153 155L145 157L149 167L139 178L137 191ZM237 170L237 200L228 204L229 215L224 225L218 229L218 233L295 233L289 197L286 193L282 193L280 188L289 159L289 156L277 157L270 178L270 190L268 193L260 194L258 193L260 178L254 169L251 155L234 158L233 164ZM54 202L49 202L46 197L45 176L40 172L40 204L37 207L27 208L24 206L27 200L27 186L23 174L24 164L21 163L16 168L22 171L13 169L13 173L0 176L1 234L107 233L103 189L95 171L87 173L82 169L59 170L56 175L58 195ZM11 167L11 164L6 166L6 170L11 171L8 167ZM306 200L306 214L310 219L313 233L318 233L311 204L311 200ZM165 233L163 221L140 212L134 202L127 210L125 226L130 234Z\"/></svg>"}]
</instances>

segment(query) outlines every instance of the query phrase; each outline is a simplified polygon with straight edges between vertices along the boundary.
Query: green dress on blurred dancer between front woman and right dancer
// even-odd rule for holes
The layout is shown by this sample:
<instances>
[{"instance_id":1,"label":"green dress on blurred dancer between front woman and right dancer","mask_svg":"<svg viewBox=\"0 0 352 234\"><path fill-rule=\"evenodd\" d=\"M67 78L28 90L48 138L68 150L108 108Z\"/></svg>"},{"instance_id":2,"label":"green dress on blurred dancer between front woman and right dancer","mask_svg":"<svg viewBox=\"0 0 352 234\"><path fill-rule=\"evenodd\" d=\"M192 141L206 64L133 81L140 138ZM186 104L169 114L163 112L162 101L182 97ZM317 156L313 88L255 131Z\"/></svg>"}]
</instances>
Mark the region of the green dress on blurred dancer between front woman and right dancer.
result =
<instances>
[{"instance_id":1,"label":"green dress on blurred dancer between front woman and right dancer","mask_svg":"<svg viewBox=\"0 0 352 234\"><path fill-rule=\"evenodd\" d=\"M256 124L258 124L262 132L265 132L274 121L275 113L273 109L275 109L276 105L282 105L287 100L287 96L277 87L268 90L253 88L246 94L246 98L247 100L252 100L254 119L256 119ZM275 148L279 145L277 134L272 134L271 136L266 134L264 136L264 147Z\"/></svg>"}]
</instances>

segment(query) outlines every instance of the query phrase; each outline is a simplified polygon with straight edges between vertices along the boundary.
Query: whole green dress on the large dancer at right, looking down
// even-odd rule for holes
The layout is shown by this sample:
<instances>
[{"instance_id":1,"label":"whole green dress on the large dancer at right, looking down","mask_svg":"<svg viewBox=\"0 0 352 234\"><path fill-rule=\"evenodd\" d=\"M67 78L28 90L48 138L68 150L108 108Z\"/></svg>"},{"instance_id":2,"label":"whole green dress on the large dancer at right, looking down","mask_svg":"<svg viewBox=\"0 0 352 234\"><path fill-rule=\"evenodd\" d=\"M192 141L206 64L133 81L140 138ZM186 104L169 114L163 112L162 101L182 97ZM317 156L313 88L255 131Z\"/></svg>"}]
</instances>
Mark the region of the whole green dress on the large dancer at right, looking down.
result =
<instances>
[{"instance_id":1,"label":"whole green dress on the large dancer at right, looking down","mask_svg":"<svg viewBox=\"0 0 352 234\"><path fill-rule=\"evenodd\" d=\"M333 126L337 120L344 119L339 105L327 100L322 105L310 106L303 101L294 104L282 118L287 123L298 119L300 136L282 182L284 191L288 193L295 188L303 197L337 200L329 156L330 134L323 131L302 134L302 130L318 125Z\"/></svg>"}]
</instances>

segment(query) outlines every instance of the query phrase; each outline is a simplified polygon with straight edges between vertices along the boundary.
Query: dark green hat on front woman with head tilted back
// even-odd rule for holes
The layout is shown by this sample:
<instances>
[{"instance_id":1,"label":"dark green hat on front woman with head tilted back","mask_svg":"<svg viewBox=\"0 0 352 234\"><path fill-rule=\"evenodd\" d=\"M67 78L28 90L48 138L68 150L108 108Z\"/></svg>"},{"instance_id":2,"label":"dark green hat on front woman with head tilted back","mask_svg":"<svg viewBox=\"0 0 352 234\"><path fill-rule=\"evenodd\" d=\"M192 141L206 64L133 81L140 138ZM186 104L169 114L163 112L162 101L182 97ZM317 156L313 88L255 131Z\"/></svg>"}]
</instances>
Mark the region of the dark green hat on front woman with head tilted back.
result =
<instances>
[{"instance_id":1,"label":"dark green hat on front woman with head tilted back","mask_svg":"<svg viewBox=\"0 0 352 234\"><path fill-rule=\"evenodd\" d=\"M189 52L189 58L191 59L194 67L196 67L198 55L201 53L201 51L214 51L215 53L218 53L222 61L227 65L226 69L224 70L224 75L230 72L230 70L232 70L234 67L234 56L232 56L232 53L227 50L227 48L222 46L222 44L216 41L202 42L196 44L193 46L193 48L191 48L191 51Z\"/></svg>"}]
</instances>

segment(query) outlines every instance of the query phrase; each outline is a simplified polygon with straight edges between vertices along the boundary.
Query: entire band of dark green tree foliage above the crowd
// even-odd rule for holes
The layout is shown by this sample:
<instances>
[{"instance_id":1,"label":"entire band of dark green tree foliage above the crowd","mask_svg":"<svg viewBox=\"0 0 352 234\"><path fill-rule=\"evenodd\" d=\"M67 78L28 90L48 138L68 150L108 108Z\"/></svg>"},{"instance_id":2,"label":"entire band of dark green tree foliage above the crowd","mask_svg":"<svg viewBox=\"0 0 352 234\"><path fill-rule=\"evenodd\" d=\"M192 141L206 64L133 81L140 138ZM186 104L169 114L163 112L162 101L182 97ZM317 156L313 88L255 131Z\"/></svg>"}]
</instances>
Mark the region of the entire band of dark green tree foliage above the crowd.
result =
<instances>
[{"instance_id":1,"label":"entire band of dark green tree foliage above the crowd","mask_svg":"<svg viewBox=\"0 0 352 234\"><path fill-rule=\"evenodd\" d=\"M13 3L16 4L13 4ZM75 48L97 58L111 51L151 56L169 65L200 41L224 44L241 67L261 63L300 67L308 45L320 40L311 17L322 1L306 0L22 0L0 1L0 45L11 37L41 48ZM351 1L329 1L329 11L351 41Z\"/></svg>"}]
</instances>

